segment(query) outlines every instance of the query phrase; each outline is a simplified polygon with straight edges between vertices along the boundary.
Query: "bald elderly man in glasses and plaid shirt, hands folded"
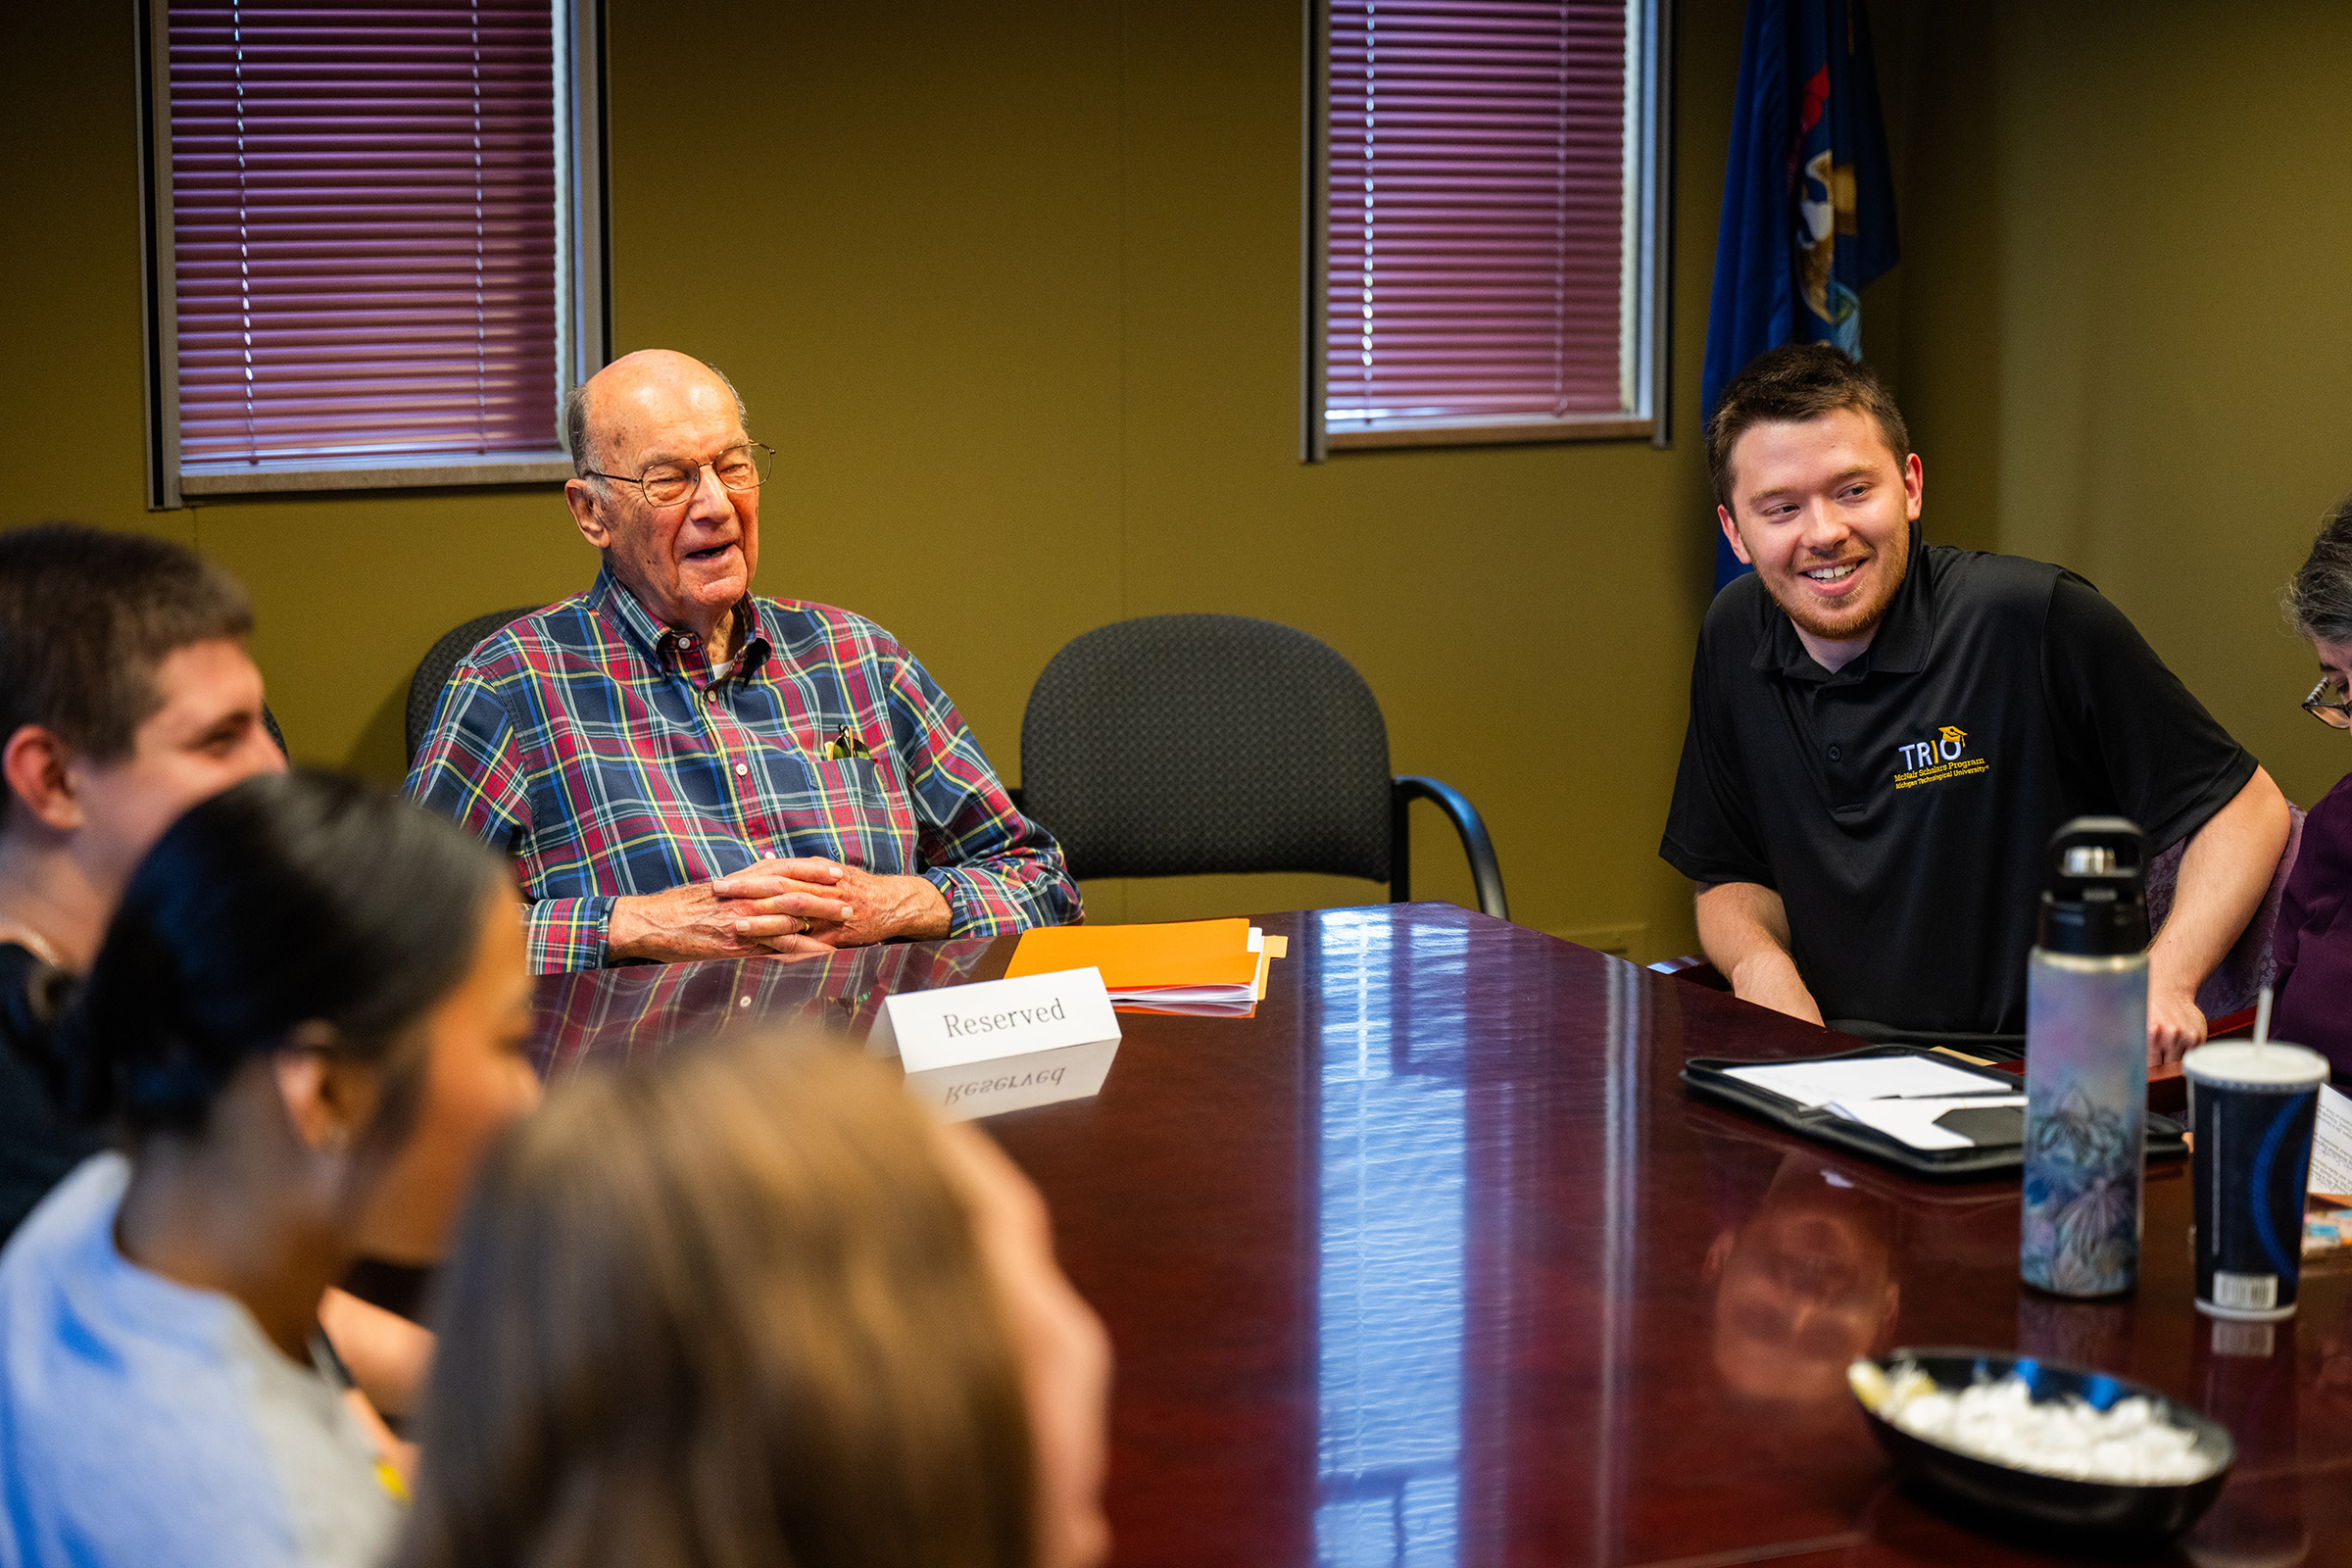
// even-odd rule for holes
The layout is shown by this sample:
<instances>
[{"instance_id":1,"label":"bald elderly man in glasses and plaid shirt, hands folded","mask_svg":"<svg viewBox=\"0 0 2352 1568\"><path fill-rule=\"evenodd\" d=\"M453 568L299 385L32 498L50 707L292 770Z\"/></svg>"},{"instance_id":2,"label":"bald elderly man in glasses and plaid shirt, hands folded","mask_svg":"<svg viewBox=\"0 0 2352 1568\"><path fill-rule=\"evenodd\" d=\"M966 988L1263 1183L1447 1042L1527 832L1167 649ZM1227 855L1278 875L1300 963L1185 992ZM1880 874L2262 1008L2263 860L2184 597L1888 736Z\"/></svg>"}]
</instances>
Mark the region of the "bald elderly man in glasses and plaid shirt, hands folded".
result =
<instances>
[{"instance_id":1,"label":"bald elderly man in glasses and plaid shirt, hands folded","mask_svg":"<svg viewBox=\"0 0 2352 1568\"><path fill-rule=\"evenodd\" d=\"M459 663L407 780L515 858L536 973L1082 919L906 646L750 592L771 454L722 374L626 355L564 435L595 585Z\"/></svg>"}]
</instances>

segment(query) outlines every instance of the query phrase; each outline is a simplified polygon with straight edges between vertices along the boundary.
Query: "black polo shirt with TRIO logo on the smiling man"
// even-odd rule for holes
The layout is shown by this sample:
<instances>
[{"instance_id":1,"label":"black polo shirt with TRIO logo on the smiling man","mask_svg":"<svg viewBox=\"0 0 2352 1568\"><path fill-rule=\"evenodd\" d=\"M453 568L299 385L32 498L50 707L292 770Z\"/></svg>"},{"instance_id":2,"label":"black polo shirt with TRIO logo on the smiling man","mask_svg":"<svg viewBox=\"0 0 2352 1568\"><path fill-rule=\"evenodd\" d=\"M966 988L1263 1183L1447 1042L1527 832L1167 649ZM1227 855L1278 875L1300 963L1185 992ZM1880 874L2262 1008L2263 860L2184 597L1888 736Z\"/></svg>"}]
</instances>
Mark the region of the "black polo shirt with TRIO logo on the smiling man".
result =
<instances>
[{"instance_id":1,"label":"black polo shirt with TRIO logo on the smiling man","mask_svg":"<svg viewBox=\"0 0 2352 1568\"><path fill-rule=\"evenodd\" d=\"M1776 889L1823 1018L2023 1034L2051 832L2129 816L2154 856L2253 769L2086 581L1912 524L1877 637L1835 675L1757 576L1715 595L1658 853Z\"/></svg>"}]
</instances>

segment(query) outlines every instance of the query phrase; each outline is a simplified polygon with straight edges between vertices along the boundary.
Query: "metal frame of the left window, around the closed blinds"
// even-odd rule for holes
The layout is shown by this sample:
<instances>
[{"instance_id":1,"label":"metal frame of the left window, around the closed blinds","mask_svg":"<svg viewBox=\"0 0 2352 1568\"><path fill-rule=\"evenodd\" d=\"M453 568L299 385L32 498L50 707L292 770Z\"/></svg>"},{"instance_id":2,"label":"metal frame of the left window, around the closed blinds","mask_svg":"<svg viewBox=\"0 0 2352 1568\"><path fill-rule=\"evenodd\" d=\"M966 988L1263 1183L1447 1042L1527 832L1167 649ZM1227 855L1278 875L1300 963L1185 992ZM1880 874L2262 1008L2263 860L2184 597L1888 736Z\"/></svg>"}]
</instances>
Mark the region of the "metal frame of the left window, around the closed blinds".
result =
<instances>
[{"instance_id":1,"label":"metal frame of the left window, around the closed blinds","mask_svg":"<svg viewBox=\"0 0 2352 1568\"><path fill-rule=\"evenodd\" d=\"M612 219L604 200L604 0L550 0L555 35L555 367L579 386L612 357ZM546 484L572 477L560 440L543 451L477 458L280 461L245 473L183 475L179 454L179 299L172 219L172 16L169 0L136 0L139 33L139 259L146 270L146 477L148 510L209 496L454 489ZM562 388L548 390L555 416Z\"/></svg>"}]
</instances>

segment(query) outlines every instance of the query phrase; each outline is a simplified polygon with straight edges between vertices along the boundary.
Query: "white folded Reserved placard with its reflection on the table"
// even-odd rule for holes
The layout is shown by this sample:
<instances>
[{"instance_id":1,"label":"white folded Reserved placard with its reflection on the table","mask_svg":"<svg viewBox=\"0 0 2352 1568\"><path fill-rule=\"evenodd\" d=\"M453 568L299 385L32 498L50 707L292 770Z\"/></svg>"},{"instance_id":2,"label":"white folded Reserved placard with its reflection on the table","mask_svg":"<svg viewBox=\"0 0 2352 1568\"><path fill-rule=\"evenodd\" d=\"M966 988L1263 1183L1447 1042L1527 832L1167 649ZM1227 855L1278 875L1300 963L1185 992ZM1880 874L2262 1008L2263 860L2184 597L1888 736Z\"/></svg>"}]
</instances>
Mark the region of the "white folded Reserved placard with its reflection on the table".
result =
<instances>
[{"instance_id":1,"label":"white folded Reserved placard with its reflection on the table","mask_svg":"<svg viewBox=\"0 0 2352 1568\"><path fill-rule=\"evenodd\" d=\"M1098 1093L1120 1051L1103 971L1063 969L884 997L870 1056L955 1121Z\"/></svg>"}]
</instances>

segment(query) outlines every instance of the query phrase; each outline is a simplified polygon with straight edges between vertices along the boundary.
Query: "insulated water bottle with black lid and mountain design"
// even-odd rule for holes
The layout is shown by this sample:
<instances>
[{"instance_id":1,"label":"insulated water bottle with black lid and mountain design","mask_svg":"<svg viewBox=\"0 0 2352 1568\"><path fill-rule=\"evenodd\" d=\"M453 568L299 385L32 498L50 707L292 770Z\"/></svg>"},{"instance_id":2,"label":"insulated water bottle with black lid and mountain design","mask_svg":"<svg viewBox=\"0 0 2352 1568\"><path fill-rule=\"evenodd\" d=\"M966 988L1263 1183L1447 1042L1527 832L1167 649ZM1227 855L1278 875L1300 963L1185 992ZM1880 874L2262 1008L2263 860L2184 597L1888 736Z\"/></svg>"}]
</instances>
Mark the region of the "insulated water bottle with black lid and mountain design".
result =
<instances>
[{"instance_id":1,"label":"insulated water bottle with black lid and mountain design","mask_svg":"<svg viewBox=\"0 0 2352 1568\"><path fill-rule=\"evenodd\" d=\"M2114 1295L2140 1272L2145 849L2119 816L2060 827L2027 959L2018 1272L2058 1295Z\"/></svg>"}]
</instances>

